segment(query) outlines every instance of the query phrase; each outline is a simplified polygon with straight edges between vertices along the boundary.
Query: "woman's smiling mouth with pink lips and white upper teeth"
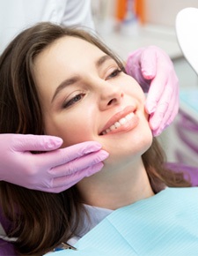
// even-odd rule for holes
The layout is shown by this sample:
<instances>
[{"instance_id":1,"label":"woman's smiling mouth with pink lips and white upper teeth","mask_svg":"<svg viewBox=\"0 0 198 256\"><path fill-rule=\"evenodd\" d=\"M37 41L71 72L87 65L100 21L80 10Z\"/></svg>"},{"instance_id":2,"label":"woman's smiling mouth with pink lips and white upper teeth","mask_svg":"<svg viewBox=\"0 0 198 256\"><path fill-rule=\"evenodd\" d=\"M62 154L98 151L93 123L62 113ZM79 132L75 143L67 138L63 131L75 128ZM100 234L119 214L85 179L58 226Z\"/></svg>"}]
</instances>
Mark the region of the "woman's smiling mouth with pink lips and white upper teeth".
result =
<instances>
[{"instance_id":1,"label":"woman's smiling mouth with pink lips and white upper teeth","mask_svg":"<svg viewBox=\"0 0 198 256\"><path fill-rule=\"evenodd\" d=\"M133 129L138 122L136 117L136 109L133 106L128 106L111 117L103 127L99 135L107 133L124 132Z\"/></svg>"}]
</instances>

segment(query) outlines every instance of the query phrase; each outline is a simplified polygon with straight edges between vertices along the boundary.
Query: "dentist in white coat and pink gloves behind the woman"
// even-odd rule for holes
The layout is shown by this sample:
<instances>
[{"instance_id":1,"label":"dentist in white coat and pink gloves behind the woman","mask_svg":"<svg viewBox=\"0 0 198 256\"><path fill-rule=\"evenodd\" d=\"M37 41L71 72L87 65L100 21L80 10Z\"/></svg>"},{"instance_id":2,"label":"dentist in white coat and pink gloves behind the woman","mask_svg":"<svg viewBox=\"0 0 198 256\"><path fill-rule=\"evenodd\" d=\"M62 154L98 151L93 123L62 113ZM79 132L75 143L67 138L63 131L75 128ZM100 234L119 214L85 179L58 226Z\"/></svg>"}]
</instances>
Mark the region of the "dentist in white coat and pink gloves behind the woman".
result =
<instances>
[{"instance_id":1,"label":"dentist in white coat and pink gloves behind the woman","mask_svg":"<svg viewBox=\"0 0 198 256\"><path fill-rule=\"evenodd\" d=\"M94 29L91 7L90 0L1 1L0 54L16 34L40 21ZM128 74L146 86L146 92L150 88L146 109L151 114L150 127L154 136L172 123L179 108L179 84L170 62L164 51L157 47L138 49L127 59ZM29 189L62 192L103 166L104 155L97 142L86 141L75 147L62 148L60 154L55 149L61 147L62 139L57 137L3 133L0 140L0 180ZM33 155L31 150L46 154ZM31 164L28 166L26 162ZM58 177L56 172L59 172Z\"/></svg>"}]
</instances>

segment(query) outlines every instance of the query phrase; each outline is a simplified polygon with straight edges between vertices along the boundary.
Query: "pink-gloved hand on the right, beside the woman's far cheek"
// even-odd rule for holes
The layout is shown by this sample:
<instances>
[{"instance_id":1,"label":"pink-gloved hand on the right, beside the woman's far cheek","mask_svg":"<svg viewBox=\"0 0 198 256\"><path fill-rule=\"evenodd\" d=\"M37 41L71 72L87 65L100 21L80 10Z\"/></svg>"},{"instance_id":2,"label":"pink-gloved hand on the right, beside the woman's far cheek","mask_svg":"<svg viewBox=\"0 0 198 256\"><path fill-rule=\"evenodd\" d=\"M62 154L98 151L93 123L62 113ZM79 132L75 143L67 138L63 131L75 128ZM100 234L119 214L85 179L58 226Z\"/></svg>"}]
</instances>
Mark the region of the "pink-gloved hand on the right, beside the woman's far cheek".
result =
<instances>
[{"instance_id":1,"label":"pink-gloved hand on the right, beside the woman's far cheek","mask_svg":"<svg viewBox=\"0 0 198 256\"><path fill-rule=\"evenodd\" d=\"M179 82L169 56L158 47L137 49L128 56L126 72L148 92L145 109L158 136L179 110Z\"/></svg>"}]
</instances>

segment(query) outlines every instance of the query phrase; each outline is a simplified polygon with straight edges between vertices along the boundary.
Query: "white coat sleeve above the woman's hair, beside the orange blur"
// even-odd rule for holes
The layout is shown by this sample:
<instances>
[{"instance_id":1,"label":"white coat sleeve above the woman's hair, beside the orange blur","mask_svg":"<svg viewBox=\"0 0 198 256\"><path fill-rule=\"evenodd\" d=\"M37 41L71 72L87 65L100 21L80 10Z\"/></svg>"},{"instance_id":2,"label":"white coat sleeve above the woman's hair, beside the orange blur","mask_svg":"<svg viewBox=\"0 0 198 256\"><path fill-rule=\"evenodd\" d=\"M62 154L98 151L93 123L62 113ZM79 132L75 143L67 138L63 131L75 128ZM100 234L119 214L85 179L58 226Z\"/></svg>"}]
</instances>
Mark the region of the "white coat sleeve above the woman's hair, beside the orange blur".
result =
<instances>
[{"instance_id":1,"label":"white coat sleeve above the woman's hair, beside the orange blur","mask_svg":"<svg viewBox=\"0 0 198 256\"><path fill-rule=\"evenodd\" d=\"M62 17L66 26L86 26L95 29L90 0L68 0Z\"/></svg>"}]
</instances>

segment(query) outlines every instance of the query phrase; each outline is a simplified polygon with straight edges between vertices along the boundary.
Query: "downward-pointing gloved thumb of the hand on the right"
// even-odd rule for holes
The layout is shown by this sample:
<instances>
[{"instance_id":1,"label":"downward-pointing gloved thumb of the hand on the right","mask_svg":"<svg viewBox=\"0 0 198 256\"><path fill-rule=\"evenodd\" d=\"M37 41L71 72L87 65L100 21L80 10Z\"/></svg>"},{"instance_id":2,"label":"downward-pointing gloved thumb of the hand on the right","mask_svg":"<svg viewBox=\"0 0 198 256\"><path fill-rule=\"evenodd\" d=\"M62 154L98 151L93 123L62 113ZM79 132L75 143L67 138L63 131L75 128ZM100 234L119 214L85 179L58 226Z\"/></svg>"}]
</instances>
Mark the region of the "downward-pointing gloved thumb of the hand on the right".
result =
<instances>
[{"instance_id":1,"label":"downward-pointing gloved thumb of the hand on the right","mask_svg":"<svg viewBox=\"0 0 198 256\"><path fill-rule=\"evenodd\" d=\"M141 69L144 79L153 79L156 76L157 64L156 51L150 47L144 49L141 56Z\"/></svg>"}]
</instances>

